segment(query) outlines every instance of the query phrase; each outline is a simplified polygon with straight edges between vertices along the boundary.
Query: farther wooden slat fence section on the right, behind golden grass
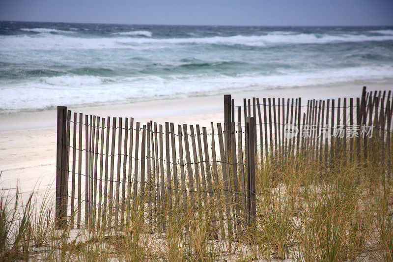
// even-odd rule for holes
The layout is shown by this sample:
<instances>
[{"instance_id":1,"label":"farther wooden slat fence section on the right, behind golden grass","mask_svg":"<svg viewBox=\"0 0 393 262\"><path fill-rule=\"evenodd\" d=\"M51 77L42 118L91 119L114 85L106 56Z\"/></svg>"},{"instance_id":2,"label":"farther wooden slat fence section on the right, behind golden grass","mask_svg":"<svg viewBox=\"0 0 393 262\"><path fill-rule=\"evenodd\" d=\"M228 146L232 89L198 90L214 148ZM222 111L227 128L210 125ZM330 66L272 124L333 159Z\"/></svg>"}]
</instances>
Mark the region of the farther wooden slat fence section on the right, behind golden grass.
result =
<instances>
[{"instance_id":1,"label":"farther wooden slat fence section on the right, behind golden grass","mask_svg":"<svg viewBox=\"0 0 393 262\"><path fill-rule=\"evenodd\" d=\"M256 119L257 165L301 155L318 161L321 168L337 164L337 160L372 157L382 158L392 168L391 90L366 92L364 87L357 98L312 99L305 104L300 97L252 98L243 99L243 106L235 106L229 95L226 103L231 121Z\"/></svg>"}]
</instances>

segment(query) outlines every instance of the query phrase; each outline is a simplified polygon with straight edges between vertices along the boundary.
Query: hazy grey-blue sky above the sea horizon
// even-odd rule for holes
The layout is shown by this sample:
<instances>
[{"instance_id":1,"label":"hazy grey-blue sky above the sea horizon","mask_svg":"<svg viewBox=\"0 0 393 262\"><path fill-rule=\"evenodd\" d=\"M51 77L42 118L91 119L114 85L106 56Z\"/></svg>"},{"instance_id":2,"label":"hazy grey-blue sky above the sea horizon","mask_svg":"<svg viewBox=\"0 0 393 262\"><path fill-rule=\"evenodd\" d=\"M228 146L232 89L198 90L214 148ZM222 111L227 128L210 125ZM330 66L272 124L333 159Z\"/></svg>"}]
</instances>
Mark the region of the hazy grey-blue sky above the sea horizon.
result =
<instances>
[{"instance_id":1,"label":"hazy grey-blue sky above the sea horizon","mask_svg":"<svg viewBox=\"0 0 393 262\"><path fill-rule=\"evenodd\" d=\"M393 0L0 0L0 20L164 25L393 25Z\"/></svg>"}]
</instances>

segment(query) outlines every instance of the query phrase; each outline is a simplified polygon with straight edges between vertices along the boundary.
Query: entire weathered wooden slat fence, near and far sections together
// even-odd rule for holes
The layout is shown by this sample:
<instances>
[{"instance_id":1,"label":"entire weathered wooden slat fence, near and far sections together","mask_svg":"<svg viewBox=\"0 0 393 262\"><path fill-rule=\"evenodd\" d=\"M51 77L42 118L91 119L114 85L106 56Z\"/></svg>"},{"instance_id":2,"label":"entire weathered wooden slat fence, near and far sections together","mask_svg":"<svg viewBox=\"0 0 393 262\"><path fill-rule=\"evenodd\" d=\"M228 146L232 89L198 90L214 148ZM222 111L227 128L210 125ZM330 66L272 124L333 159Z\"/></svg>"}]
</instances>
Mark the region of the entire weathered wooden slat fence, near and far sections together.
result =
<instances>
[{"instance_id":1,"label":"entire weathered wooden slat fence, near and far sections together","mask_svg":"<svg viewBox=\"0 0 393 262\"><path fill-rule=\"evenodd\" d=\"M241 106L225 95L224 108L223 124L176 129L58 107L57 227L122 229L137 210L152 231L165 230L170 215L202 215L232 239L253 225L255 169L301 157L323 170L378 154L392 171L391 91Z\"/></svg>"}]
</instances>

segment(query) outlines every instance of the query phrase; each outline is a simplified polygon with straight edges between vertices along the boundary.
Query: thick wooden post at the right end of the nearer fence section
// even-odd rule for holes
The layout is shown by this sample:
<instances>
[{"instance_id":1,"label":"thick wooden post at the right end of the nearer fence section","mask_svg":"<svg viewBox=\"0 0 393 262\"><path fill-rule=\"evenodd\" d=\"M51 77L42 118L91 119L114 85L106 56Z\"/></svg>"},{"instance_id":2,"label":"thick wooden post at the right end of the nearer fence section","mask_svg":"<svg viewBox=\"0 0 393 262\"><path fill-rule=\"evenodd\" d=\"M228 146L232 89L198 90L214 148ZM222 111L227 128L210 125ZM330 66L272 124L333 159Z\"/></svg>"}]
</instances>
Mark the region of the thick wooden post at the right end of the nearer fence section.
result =
<instances>
[{"instance_id":1,"label":"thick wooden post at the right end of the nearer fence section","mask_svg":"<svg viewBox=\"0 0 393 262\"><path fill-rule=\"evenodd\" d=\"M247 134L247 216L248 226L254 224L256 215L255 205L255 121L254 117L246 118L246 134Z\"/></svg>"}]
</instances>

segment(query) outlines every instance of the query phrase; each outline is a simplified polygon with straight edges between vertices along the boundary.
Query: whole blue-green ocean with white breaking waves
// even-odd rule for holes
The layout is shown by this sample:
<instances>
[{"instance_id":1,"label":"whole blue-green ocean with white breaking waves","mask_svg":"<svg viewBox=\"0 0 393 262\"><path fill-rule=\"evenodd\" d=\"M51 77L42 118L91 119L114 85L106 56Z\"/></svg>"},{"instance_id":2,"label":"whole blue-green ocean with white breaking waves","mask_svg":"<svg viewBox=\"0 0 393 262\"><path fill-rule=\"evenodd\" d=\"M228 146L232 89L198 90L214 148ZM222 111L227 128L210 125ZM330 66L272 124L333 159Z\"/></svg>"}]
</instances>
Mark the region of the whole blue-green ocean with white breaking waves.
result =
<instances>
[{"instance_id":1,"label":"whole blue-green ocean with white breaking waves","mask_svg":"<svg viewBox=\"0 0 393 262\"><path fill-rule=\"evenodd\" d=\"M370 81L393 27L0 22L0 114Z\"/></svg>"}]
</instances>

